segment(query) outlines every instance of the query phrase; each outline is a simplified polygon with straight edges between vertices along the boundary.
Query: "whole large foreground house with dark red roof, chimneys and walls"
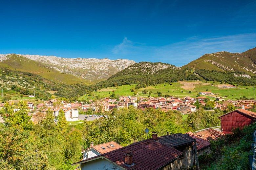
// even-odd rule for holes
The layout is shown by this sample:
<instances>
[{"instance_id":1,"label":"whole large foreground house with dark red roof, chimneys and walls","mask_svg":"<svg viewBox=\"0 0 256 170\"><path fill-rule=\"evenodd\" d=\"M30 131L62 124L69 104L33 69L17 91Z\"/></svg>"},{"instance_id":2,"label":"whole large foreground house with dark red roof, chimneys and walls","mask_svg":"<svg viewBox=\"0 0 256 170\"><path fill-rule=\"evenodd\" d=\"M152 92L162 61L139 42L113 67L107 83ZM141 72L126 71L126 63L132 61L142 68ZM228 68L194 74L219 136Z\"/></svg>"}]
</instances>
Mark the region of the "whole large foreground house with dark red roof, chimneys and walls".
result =
<instances>
[{"instance_id":1,"label":"whole large foreground house with dark red roof, chimneys and walls","mask_svg":"<svg viewBox=\"0 0 256 170\"><path fill-rule=\"evenodd\" d=\"M177 133L130 144L98 156L76 162L81 170L171 170L194 165L194 139Z\"/></svg>"}]
</instances>

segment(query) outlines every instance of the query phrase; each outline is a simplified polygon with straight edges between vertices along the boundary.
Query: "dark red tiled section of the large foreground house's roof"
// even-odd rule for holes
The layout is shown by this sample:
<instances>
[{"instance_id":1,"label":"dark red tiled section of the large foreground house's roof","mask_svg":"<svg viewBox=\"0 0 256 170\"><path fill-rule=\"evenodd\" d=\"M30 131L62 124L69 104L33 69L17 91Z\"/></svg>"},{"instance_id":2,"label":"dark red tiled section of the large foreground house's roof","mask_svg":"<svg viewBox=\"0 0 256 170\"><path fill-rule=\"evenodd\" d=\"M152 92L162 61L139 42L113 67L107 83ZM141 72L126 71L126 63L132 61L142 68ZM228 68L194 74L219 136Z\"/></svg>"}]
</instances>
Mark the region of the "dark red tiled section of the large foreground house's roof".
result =
<instances>
[{"instance_id":1,"label":"dark red tiled section of the large foreground house's roof","mask_svg":"<svg viewBox=\"0 0 256 170\"><path fill-rule=\"evenodd\" d=\"M124 164L125 151L128 150L133 152L133 163L135 165L132 167ZM148 139L102 154L102 156L128 170L155 170L176 159L181 154L182 152L175 148Z\"/></svg>"}]
</instances>

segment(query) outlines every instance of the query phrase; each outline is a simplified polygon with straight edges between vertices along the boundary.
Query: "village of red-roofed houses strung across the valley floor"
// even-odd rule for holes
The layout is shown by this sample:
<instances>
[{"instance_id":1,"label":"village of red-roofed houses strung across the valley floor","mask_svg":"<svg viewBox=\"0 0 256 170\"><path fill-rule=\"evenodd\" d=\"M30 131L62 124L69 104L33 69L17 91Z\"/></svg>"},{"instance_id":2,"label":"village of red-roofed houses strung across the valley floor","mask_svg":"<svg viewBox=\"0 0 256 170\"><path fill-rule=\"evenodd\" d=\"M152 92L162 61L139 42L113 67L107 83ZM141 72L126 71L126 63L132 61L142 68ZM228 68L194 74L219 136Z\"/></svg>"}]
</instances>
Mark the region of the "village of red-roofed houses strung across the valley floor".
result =
<instances>
[{"instance_id":1,"label":"village of red-roofed houses strung across the valley floor","mask_svg":"<svg viewBox=\"0 0 256 170\"><path fill-rule=\"evenodd\" d=\"M38 112L46 114L48 110L53 112L55 119L60 110L63 110L67 121L79 120L79 114L93 114L95 117L102 117L104 112L113 109L119 110L121 108L128 108L133 106L136 109L145 110L146 108L160 109L162 111L178 110L183 115L190 114L200 108L204 108L207 102L211 101L214 107L205 110L220 109L226 110L228 105L233 105L236 109L250 110L256 105L256 100L224 100L222 97L216 97L215 100L207 96L213 96L211 92L199 92L199 97L136 97L136 96L120 96L117 98L103 98L101 100L89 100L88 103L83 102L66 102L64 100L51 99L39 104L27 102L29 115L36 117ZM211 100L210 100L211 99ZM196 104L197 103L197 104ZM0 108L4 107L4 103L0 104ZM15 108L15 111L19 109ZM102 115L100 115L102 114ZM97 116L99 115L99 116ZM83 118L88 118L84 116ZM33 120L33 118L32 118Z\"/></svg>"}]
</instances>

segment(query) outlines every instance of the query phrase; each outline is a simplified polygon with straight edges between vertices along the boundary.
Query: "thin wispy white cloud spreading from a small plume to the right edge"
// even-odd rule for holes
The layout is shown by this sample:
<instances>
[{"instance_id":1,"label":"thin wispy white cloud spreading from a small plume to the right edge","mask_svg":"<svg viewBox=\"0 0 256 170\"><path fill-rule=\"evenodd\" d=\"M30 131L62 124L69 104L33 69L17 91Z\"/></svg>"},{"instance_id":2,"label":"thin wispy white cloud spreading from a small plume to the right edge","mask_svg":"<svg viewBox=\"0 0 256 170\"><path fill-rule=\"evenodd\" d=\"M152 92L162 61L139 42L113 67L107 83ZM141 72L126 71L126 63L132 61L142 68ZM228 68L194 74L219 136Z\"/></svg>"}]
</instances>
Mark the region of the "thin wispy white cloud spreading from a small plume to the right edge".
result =
<instances>
[{"instance_id":1,"label":"thin wispy white cloud spreading from a small plume to the right edge","mask_svg":"<svg viewBox=\"0 0 256 170\"><path fill-rule=\"evenodd\" d=\"M255 46L256 33L209 38L196 36L163 46L148 46L125 37L120 44L114 47L112 52L115 55L136 61L161 61L182 66L205 53L244 52Z\"/></svg>"}]
</instances>

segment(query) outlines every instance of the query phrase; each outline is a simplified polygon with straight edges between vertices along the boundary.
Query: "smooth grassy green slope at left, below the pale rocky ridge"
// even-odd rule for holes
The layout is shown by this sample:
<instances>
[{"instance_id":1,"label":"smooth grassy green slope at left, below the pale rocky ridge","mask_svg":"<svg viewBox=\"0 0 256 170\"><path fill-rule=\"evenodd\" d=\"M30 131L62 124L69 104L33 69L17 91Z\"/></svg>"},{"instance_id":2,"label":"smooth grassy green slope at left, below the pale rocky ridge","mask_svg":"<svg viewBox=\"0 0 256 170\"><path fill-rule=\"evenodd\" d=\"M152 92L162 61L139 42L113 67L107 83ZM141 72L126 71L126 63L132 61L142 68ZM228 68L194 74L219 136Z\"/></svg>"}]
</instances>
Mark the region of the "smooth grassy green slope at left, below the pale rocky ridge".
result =
<instances>
[{"instance_id":1,"label":"smooth grassy green slope at left, below the pale rocky ridge","mask_svg":"<svg viewBox=\"0 0 256 170\"><path fill-rule=\"evenodd\" d=\"M9 70L29 72L40 75L49 80L53 80L56 83L75 84L83 83L86 85L93 84L89 80L78 78L73 75L60 73L54 69L48 68L39 62L33 61L26 57L11 54L8 56L8 60L0 62L1 68L7 68Z\"/></svg>"}]
</instances>

